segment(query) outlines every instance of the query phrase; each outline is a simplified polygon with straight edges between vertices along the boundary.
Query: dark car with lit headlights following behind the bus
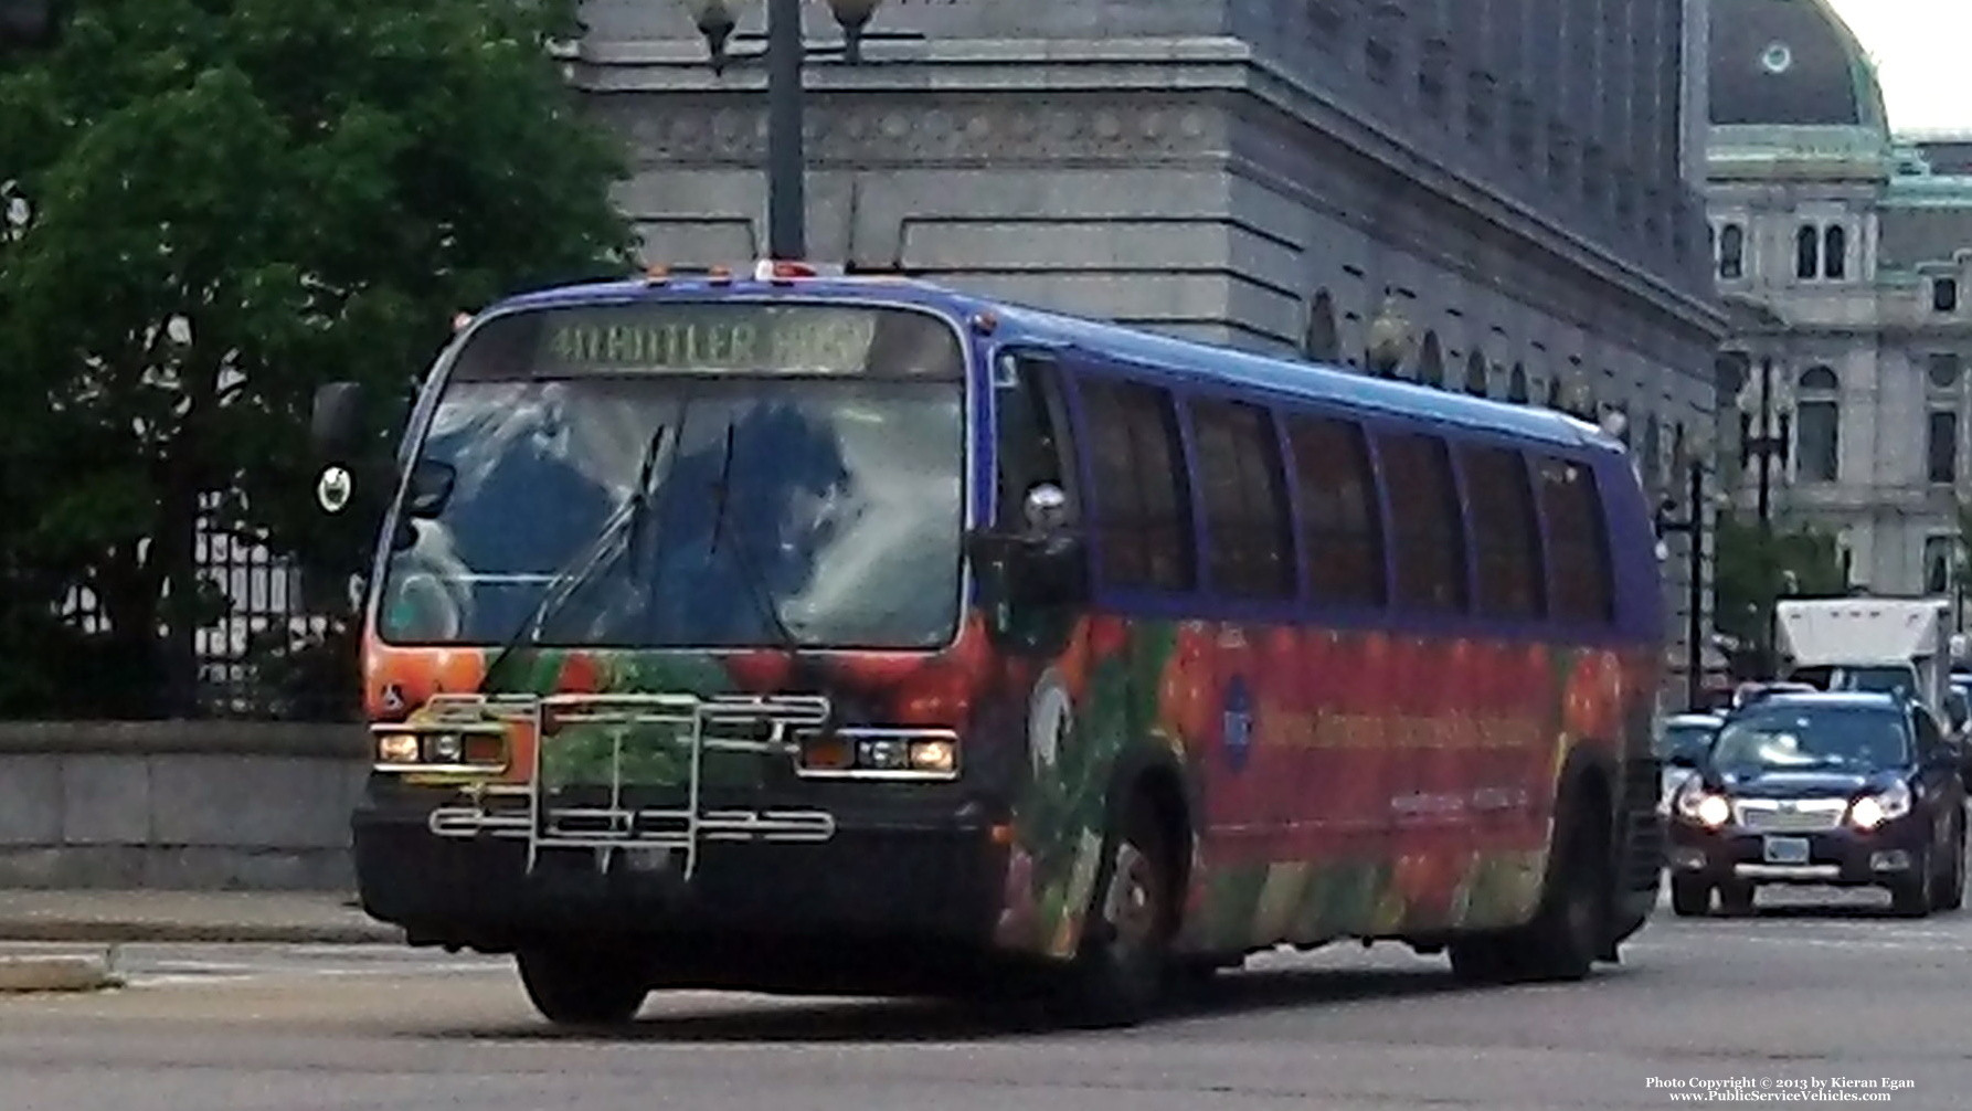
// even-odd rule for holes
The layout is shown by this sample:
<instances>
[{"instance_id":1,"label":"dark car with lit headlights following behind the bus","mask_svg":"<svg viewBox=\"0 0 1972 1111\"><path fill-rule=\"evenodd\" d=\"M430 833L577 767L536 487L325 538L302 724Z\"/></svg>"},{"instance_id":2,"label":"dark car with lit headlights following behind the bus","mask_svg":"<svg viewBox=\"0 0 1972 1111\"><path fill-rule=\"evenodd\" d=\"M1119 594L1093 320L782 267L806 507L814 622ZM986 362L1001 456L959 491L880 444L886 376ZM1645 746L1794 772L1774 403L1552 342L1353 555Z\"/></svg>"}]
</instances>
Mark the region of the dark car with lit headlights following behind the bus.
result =
<instances>
[{"instance_id":1,"label":"dark car with lit headlights following behind the bus","mask_svg":"<svg viewBox=\"0 0 1972 1111\"><path fill-rule=\"evenodd\" d=\"M1899 914L1964 904L1958 746L1895 695L1769 695L1726 718L1670 805L1670 902L1749 914L1761 884L1881 886Z\"/></svg>"}]
</instances>

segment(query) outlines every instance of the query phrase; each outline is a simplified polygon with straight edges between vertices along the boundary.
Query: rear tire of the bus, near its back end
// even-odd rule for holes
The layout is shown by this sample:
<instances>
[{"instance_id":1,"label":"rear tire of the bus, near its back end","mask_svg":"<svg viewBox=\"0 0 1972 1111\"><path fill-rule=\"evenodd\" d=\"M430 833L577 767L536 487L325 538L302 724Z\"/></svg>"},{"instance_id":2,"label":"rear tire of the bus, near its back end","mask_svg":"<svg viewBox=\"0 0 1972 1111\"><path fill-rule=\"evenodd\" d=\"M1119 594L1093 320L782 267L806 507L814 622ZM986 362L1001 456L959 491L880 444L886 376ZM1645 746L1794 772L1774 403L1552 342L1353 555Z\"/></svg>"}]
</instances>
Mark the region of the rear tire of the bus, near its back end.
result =
<instances>
[{"instance_id":1,"label":"rear tire of the bus, near its back end","mask_svg":"<svg viewBox=\"0 0 1972 1111\"><path fill-rule=\"evenodd\" d=\"M1593 795L1582 793L1580 783L1574 799L1576 805L1562 811L1566 821L1540 910L1509 943L1514 979L1580 981L1589 975L1595 955L1607 949L1607 815L1593 805Z\"/></svg>"}]
</instances>

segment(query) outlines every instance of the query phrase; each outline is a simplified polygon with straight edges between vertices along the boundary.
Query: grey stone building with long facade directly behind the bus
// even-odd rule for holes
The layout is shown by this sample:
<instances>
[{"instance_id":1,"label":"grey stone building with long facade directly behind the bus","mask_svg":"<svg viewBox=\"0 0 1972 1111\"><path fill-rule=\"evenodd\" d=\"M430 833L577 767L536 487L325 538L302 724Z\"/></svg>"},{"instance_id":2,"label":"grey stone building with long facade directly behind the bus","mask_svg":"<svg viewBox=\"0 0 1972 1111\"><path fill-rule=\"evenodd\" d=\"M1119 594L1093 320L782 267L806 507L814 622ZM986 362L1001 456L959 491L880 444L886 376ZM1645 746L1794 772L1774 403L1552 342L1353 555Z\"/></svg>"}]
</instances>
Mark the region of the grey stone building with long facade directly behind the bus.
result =
<instances>
[{"instance_id":1,"label":"grey stone building with long facade directly behind the bus","mask_svg":"<svg viewBox=\"0 0 1972 1111\"><path fill-rule=\"evenodd\" d=\"M822 2L810 41L834 39ZM761 8L734 47L757 47ZM1584 414L1653 485L1708 450L1706 0L889 0L809 71L809 247ZM651 260L765 243L757 65L592 0L570 77L629 136ZM1374 335L1373 335L1374 333ZM1682 541L1668 600L1682 635ZM1682 665L1682 647L1670 661Z\"/></svg>"}]
</instances>

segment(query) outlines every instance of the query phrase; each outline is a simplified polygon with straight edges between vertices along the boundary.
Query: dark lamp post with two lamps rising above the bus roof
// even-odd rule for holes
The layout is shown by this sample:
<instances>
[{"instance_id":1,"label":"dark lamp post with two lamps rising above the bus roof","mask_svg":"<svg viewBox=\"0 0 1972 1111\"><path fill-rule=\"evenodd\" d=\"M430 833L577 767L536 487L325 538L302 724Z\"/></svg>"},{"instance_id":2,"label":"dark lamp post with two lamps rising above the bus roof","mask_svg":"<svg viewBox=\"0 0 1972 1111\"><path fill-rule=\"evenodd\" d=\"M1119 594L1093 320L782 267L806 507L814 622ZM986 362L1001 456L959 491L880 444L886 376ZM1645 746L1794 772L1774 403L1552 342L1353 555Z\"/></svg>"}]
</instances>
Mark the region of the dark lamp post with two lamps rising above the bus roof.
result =
<instances>
[{"instance_id":1,"label":"dark lamp post with two lamps rising above the bus roof","mask_svg":"<svg viewBox=\"0 0 1972 1111\"><path fill-rule=\"evenodd\" d=\"M680 2L698 26L698 34L706 37L712 71L724 73L734 59L728 43L740 26L738 8L745 0ZM767 255L785 262L803 262L809 257L809 156L801 134L807 116L803 71L809 47L801 28L801 4L803 0L767 0ZM864 30L881 4L883 0L828 0L828 10L842 28L842 57L850 65L862 61Z\"/></svg>"}]
</instances>

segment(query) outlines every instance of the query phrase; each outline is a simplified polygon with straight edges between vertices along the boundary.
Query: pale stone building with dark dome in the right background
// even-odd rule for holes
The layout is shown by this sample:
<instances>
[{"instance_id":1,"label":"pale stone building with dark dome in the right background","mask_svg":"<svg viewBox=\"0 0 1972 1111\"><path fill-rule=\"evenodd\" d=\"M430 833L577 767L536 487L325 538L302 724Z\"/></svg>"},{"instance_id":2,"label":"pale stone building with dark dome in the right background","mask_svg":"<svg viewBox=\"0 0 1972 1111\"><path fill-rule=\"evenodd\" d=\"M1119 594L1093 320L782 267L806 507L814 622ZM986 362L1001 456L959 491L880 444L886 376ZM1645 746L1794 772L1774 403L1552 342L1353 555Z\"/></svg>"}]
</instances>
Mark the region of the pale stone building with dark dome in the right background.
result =
<instances>
[{"instance_id":1,"label":"pale stone building with dark dome in the right background","mask_svg":"<svg viewBox=\"0 0 1972 1111\"><path fill-rule=\"evenodd\" d=\"M1972 142L1899 140L1824 0L1714 4L1727 464L1765 414L1779 519L1834 533L1856 586L1946 594L1972 493ZM1735 497L1753 509L1757 456Z\"/></svg>"}]
</instances>

